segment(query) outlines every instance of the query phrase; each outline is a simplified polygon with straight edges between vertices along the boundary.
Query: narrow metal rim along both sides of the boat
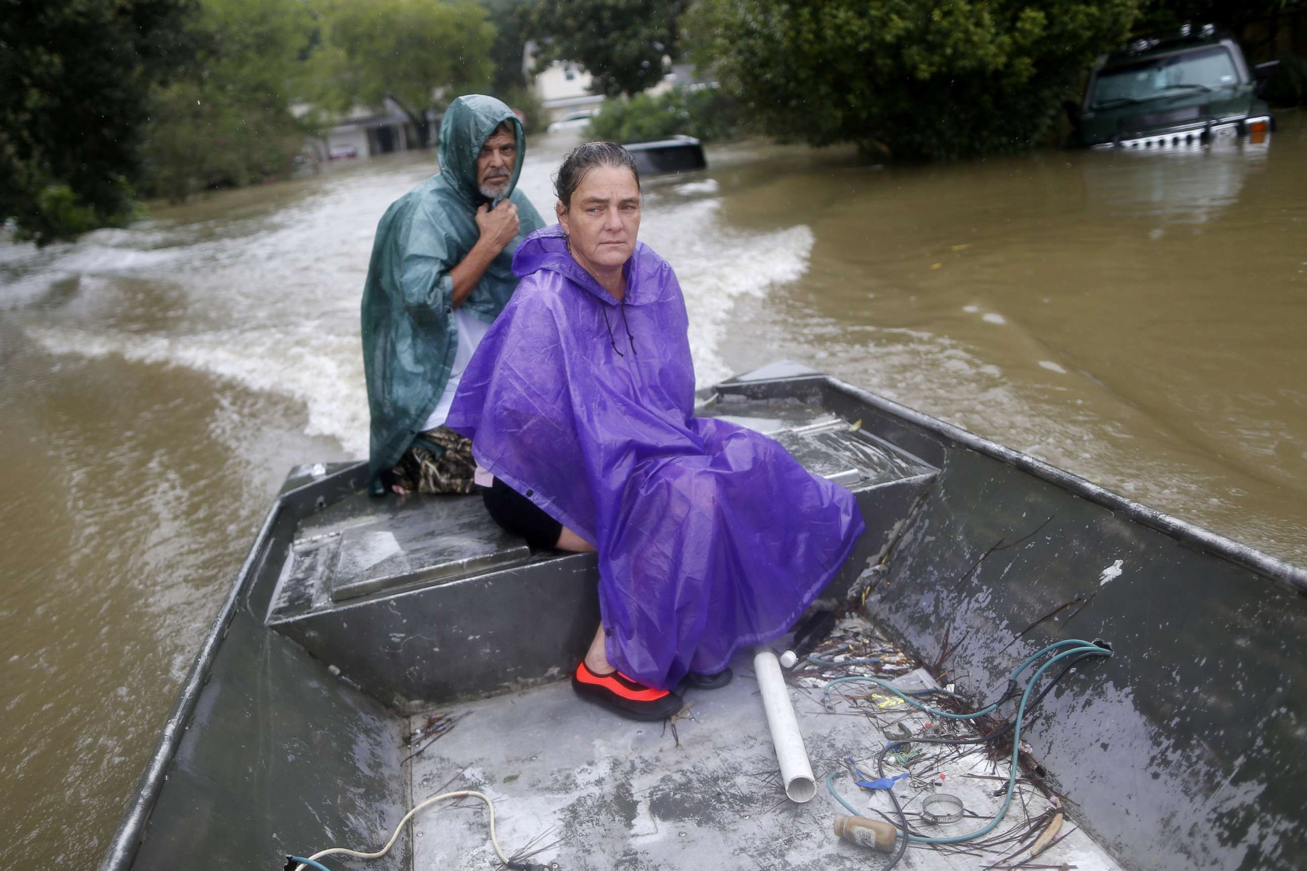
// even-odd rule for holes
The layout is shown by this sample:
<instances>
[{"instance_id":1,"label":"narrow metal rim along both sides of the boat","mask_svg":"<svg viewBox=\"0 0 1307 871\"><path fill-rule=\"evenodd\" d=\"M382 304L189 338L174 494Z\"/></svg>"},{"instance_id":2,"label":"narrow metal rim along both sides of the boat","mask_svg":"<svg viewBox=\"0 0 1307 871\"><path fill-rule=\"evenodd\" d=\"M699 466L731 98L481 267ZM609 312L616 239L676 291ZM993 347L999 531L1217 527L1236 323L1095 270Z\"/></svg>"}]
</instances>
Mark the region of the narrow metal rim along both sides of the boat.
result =
<instances>
[{"instance_id":1,"label":"narrow metal rim along both sides of the boat","mask_svg":"<svg viewBox=\"0 0 1307 871\"><path fill-rule=\"evenodd\" d=\"M1044 462L1043 460L1036 460L1035 457L1019 451L1013 451L1012 448L991 441L989 439L963 430L962 427L921 411L916 411L915 409L910 409L869 390L853 387L852 384L842 381L834 376L819 372L757 380L749 380L748 376L737 376L719 383L714 388L714 392L716 394L733 393L742 392L745 389L757 389L771 384L813 384L825 387L835 393L846 396L850 400L863 402L877 411L897 417L899 420L912 427L942 436L958 447L975 451L976 453L1014 466L1021 471L1061 487L1073 495L1081 496L1097 505L1107 508L1108 511L1120 512L1127 518L1148 526L1149 529L1161 531L1180 542L1197 546L1205 552L1223 558L1259 575L1264 575L1273 581L1286 585L1289 589L1299 594L1307 595L1307 568L1295 565L1276 556L1270 556L1269 554L1264 554L1249 545L1239 543L1231 538L1204 529L1202 526L1180 520L1172 515L1167 515L1166 512L1149 508L1148 505L1120 496L1106 487L1095 484L1064 469L1059 469L1057 466ZM154 808L154 803L158 800L159 793L163 789L167 767L176 755L176 750L186 733L186 723L195 713L195 708L199 704L200 695L208 680L213 659L217 657L229 624L235 618L237 610L240 607L242 595L247 593L247 588L252 584L255 576L257 575L259 563L264 556L272 530L277 525L278 520L281 520L282 512L286 511L288 507L302 503L307 498L320 498L318 491L329 491L333 484L345 481L352 475L357 475L358 471L366 469L366 461L350 464L322 478L284 491L273 499L272 507L268 509L263 525L259 529L259 534L255 537L255 541L250 547L250 552L246 555L246 559L240 565L240 571L237 573L237 578L233 582L231 589L227 592L222 609L214 616L208 633L200 642L200 648L196 652L191 670L187 674L186 682L178 691L178 700L163 725L154 752L150 755L149 761L145 765L145 770L137 781L135 794L127 800L127 807L119 821L118 829L110 840L105 859L99 864L99 871L127 871L131 868L136 851L144 838L145 827Z\"/></svg>"}]
</instances>

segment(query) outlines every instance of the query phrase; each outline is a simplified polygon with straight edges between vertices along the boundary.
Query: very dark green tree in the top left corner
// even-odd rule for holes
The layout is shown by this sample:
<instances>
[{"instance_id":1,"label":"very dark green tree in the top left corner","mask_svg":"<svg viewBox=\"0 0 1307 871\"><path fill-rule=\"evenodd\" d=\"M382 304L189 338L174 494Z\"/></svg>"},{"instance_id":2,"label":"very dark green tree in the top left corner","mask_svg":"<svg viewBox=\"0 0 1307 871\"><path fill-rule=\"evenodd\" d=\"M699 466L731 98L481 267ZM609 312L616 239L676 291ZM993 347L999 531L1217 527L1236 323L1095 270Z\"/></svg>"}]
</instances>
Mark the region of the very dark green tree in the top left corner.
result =
<instances>
[{"instance_id":1,"label":"very dark green tree in the top left corner","mask_svg":"<svg viewBox=\"0 0 1307 871\"><path fill-rule=\"evenodd\" d=\"M135 212L150 91L193 54L193 0L4 3L0 222L47 244Z\"/></svg>"}]
</instances>

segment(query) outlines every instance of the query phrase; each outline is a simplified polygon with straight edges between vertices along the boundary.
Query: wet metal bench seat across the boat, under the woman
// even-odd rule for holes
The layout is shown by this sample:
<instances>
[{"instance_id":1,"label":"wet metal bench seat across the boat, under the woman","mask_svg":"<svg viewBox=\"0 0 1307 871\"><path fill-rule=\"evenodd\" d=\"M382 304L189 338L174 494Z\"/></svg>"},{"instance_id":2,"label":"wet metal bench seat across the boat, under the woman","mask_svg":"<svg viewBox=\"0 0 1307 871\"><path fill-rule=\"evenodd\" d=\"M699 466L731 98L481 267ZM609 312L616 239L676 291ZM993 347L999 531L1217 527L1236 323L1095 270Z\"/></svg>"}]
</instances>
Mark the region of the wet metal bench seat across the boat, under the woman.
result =
<instances>
[{"instance_id":1,"label":"wet metal bench seat across the boat, under the woman","mask_svg":"<svg viewBox=\"0 0 1307 871\"><path fill-rule=\"evenodd\" d=\"M937 467L923 445L890 443L772 384L721 385L695 414L771 435L853 491L867 533L826 588L840 599ZM593 554L532 552L477 496L359 491L299 522L267 624L384 704L416 710L565 675L599 623L597 571Z\"/></svg>"}]
</instances>

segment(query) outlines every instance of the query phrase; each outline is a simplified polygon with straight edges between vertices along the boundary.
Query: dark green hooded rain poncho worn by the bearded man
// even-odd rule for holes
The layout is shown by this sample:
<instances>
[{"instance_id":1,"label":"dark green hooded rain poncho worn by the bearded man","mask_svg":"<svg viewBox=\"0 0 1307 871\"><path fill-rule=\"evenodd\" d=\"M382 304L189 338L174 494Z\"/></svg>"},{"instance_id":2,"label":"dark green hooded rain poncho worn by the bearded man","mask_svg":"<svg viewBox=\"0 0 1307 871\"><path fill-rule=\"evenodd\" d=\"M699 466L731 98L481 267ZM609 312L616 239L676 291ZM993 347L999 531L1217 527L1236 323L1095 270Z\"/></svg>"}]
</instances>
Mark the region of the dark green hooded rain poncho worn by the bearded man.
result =
<instances>
[{"instance_id":1,"label":"dark green hooded rain poncho worn by the bearded man","mask_svg":"<svg viewBox=\"0 0 1307 871\"><path fill-rule=\"evenodd\" d=\"M544 226L516 189L527 142L511 108L480 94L454 101L440 124L440 171L391 204L376 226L362 306L372 494L383 492L382 471L408 449L450 380L459 346L450 270L481 236L476 210L485 197L477 192L477 155L503 121L512 121L518 137L507 198L516 204L521 226L463 302L465 312L493 321L518 287L518 244Z\"/></svg>"}]
</instances>

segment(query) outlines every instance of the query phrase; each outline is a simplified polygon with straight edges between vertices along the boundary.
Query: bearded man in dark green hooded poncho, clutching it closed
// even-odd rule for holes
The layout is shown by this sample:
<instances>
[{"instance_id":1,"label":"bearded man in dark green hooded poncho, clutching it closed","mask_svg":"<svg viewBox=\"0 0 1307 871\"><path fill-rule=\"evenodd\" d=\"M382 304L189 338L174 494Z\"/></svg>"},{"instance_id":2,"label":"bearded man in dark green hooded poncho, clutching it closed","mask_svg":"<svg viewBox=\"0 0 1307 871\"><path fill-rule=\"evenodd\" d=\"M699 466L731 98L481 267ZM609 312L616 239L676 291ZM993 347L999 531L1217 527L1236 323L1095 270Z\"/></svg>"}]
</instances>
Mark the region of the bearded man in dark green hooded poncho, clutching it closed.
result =
<instances>
[{"instance_id":1,"label":"bearded man in dark green hooded poncho, clutching it closed","mask_svg":"<svg viewBox=\"0 0 1307 871\"><path fill-rule=\"evenodd\" d=\"M362 306L372 495L472 491L472 445L444 418L472 351L518 287L518 243L544 226L516 189L524 154L511 108L460 97L440 124L440 171L376 226Z\"/></svg>"}]
</instances>

